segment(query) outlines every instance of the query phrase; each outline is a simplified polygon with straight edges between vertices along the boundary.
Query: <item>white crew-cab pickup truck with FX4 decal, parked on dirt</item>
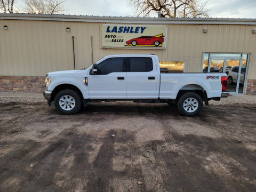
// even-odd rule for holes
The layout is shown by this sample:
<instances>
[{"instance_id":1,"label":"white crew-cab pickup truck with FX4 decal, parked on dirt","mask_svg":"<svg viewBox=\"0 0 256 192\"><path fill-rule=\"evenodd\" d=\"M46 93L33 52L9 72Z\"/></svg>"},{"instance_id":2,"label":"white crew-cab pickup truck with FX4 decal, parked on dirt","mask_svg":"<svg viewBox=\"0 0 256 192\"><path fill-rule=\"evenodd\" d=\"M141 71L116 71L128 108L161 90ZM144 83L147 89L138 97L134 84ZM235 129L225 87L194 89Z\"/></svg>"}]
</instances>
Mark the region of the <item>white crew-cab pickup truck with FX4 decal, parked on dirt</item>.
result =
<instances>
[{"instance_id":1,"label":"white crew-cab pickup truck with FX4 decal, parked on dirt","mask_svg":"<svg viewBox=\"0 0 256 192\"><path fill-rule=\"evenodd\" d=\"M161 73L158 57L109 55L86 69L56 71L45 77L44 97L63 114L88 102L129 100L177 103L182 115L195 116L208 101L228 97L226 73Z\"/></svg>"}]
</instances>

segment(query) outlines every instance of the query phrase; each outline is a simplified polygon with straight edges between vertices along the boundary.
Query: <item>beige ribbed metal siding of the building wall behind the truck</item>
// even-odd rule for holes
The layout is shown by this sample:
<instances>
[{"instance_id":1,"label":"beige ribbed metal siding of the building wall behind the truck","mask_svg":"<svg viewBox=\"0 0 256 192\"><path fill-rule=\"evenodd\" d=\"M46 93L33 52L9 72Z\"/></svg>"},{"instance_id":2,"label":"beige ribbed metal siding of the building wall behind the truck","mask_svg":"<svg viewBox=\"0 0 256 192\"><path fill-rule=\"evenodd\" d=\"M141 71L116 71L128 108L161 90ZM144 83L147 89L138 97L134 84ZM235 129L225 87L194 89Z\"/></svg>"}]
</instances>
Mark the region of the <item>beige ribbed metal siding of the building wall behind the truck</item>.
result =
<instances>
[{"instance_id":1,"label":"beige ribbed metal siding of the building wall behind the truck","mask_svg":"<svg viewBox=\"0 0 256 192\"><path fill-rule=\"evenodd\" d=\"M248 52L248 79L256 79L253 26L166 24L165 50L103 50L102 23L98 22L0 20L0 25L0 75L44 76L49 71L74 69L72 36L76 68L87 67L92 63L93 36L93 62L109 54L154 53L159 60L186 60L186 72L201 72L203 52ZM3 30L4 25L9 29ZM69 33L66 27L70 27Z\"/></svg>"}]
</instances>

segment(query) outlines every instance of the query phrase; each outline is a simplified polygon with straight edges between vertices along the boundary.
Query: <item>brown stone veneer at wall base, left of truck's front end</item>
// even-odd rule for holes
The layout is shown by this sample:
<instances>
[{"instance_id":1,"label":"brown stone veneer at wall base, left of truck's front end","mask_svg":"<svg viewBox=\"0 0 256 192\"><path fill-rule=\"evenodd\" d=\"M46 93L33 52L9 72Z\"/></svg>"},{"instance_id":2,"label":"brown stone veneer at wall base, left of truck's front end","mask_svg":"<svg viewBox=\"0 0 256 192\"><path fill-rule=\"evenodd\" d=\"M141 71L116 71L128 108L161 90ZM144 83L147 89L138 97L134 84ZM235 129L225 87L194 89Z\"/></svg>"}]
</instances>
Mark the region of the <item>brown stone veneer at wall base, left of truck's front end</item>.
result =
<instances>
[{"instance_id":1,"label":"brown stone veneer at wall base, left of truck's front end","mask_svg":"<svg viewBox=\"0 0 256 192\"><path fill-rule=\"evenodd\" d=\"M0 91L43 92L44 77L38 76L0 76Z\"/></svg>"}]
</instances>

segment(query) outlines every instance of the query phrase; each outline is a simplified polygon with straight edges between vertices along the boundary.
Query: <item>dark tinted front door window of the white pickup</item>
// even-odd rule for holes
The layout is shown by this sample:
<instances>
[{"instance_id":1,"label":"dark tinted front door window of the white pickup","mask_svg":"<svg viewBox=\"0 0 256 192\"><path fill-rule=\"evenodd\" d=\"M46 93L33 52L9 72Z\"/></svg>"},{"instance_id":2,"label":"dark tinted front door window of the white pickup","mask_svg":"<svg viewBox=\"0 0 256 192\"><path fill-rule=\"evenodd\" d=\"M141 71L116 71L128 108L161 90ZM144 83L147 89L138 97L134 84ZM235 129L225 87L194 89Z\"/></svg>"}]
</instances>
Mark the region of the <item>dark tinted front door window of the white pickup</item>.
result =
<instances>
[{"instance_id":1,"label":"dark tinted front door window of the white pickup","mask_svg":"<svg viewBox=\"0 0 256 192\"><path fill-rule=\"evenodd\" d=\"M98 64L99 75L107 75L114 72L123 72L124 58L109 58Z\"/></svg>"}]
</instances>

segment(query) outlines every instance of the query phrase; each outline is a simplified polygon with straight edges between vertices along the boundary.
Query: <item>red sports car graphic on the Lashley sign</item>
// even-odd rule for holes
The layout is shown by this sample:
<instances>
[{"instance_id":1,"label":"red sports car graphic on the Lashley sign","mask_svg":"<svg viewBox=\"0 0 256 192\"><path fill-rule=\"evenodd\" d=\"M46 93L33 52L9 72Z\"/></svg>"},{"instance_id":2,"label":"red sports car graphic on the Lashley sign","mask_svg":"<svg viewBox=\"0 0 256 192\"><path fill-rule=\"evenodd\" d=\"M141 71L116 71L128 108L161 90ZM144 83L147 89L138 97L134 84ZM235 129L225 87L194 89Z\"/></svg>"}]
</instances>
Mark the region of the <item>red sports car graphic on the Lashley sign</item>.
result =
<instances>
[{"instance_id":1,"label":"red sports car graphic on the Lashley sign","mask_svg":"<svg viewBox=\"0 0 256 192\"><path fill-rule=\"evenodd\" d=\"M163 34L156 35L156 36L141 36L138 38L130 39L129 41L126 41L125 43L127 45L125 46L162 46L162 43L164 42Z\"/></svg>"}]
</instances>

